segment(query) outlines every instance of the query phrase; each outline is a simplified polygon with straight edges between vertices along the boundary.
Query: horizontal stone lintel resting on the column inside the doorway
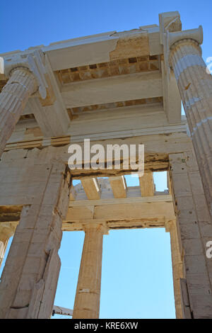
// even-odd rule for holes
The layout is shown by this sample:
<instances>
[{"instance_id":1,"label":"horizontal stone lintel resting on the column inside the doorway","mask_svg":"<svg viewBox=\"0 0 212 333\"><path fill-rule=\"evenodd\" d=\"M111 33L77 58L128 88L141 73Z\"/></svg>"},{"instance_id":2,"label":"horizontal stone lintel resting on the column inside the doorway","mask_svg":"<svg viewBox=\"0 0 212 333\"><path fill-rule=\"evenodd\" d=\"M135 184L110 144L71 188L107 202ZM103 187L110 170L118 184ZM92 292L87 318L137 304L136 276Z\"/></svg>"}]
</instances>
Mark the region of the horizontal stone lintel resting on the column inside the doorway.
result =
<instances>
[{"instance_id":1,"label":"horizontal stone lintel resting on the column inside the doorway","mask_svg":"<svg viewBox=\"0 0 212 333\"><path fill-rule=\"evenodd\" d=\"M151 225L151 222L155 223L155 221L158 221L161 226L161 223L175 220L173 203L172 200L169 201L169 198L172 197L169 195L158 196L157 198L153 197L152 201L150 197L110 199L110 201L107 200L107 204L100 205L95 205L96 202L92 205L91 201L89 201L90 203L87 203L87 205L83 204L85 201L81 201L78 205L74 205L77 201L70 202L64 224L66 227L69 225L69 230L71 230L72 227L76 227L76 224L90 222L107 222L112 223L114 227L119 225L121 228L121 225L125 225L125 227L131 228L135 224L137 227L139 227L139 225L141 227L145 222ZM129 199L136 200L131 201ZM102 201L104 200L101 199L99 202L102 203Z\"/></svg>"}]
</instances>

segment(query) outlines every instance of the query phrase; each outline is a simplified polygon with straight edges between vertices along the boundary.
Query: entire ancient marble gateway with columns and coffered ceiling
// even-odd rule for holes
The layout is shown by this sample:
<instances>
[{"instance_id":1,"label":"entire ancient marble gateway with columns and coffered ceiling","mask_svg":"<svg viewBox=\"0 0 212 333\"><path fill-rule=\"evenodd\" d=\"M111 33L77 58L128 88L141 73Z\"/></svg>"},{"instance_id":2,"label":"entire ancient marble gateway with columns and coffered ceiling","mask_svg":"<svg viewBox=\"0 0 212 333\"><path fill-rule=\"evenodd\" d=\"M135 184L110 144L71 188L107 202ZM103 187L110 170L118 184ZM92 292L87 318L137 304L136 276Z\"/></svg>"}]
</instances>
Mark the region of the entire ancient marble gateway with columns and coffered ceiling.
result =
<instances>
[{"instance_id":1,"label":"entire ancient marble gateway with columns and coffered ceiling","mask_svg":"<svg viewBox=\"0 0 212 333\"><path fill-rule=\"evenodd\" d=\"M102 239L143 227L170 232L177 318L212 318L212 78L201 27L182 30L178 12L159 21L1 55L1 259L15 232L1 318L51 316L62 230L86 233L73 318L98 318ZM95 169L83 155L69 169L70 144L85 139L144 145L140 186L127 188L122 159ZM157 193L153 171L165 170L169 191Z\"/></svg>"}]
</instances>

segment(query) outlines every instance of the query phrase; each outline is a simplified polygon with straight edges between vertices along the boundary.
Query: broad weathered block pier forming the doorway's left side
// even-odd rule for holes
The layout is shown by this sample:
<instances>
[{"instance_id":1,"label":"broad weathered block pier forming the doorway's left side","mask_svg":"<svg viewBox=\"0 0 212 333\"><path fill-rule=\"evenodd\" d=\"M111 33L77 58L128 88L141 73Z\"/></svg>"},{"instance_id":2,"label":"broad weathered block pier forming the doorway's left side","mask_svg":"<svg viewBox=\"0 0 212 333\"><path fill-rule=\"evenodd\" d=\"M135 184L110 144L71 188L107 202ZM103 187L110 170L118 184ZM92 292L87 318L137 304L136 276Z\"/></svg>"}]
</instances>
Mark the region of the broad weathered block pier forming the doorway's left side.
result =
<instances>
[{"instance_id":1,"label":"broad weathered block pier forming the doorway's left side","mask_svg":"<svg viewBox=\"0 0 212 333\"><path fill-rule=\"evenodd\" d=\"M40 191L31 205L23 206L1 275L1 319L47 319L52 314L71 184L64 164L43 164L40 174Z\"/></svg>"}]
</instances>

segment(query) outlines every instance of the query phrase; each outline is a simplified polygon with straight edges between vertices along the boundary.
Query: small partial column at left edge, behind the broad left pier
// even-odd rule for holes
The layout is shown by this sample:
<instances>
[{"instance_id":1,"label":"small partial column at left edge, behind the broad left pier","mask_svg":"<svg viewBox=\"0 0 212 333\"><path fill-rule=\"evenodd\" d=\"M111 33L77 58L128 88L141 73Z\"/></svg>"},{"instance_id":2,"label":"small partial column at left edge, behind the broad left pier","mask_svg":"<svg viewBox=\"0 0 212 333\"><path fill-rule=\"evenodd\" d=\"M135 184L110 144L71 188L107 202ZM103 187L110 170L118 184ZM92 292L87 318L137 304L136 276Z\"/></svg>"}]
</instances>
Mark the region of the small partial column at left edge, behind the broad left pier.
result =
<instances>
[{"instance_id":1,"label":"small partial column at left edge, behind the broad left pier","mask_svg":"<svg viewBox=\"0 0 212 333\"><path fill-rule=\"evenodd\" d=\"M12 223L0 223L0 267L4 259L8 240L13 236L15 230L16 225L13 225Z\"/></svg>"}]
</instances>

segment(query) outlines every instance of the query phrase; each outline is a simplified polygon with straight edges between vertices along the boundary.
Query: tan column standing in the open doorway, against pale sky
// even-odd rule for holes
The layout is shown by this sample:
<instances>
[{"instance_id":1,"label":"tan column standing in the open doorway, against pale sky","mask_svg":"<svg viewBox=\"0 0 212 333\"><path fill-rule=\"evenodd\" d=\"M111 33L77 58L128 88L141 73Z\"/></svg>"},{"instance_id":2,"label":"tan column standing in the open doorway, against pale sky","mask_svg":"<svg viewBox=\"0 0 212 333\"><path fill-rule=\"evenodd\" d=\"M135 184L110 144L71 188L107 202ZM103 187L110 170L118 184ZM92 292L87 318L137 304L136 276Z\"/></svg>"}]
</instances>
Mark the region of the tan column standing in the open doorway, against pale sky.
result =
<instances>
[{"instance_id":1,"label":"tan column standing in the open doorway, against pale sky","mask_svg":"<svg viewBox=\"0 0 212 333\"><path fill-rule=\"evenodd\" d=\"M90 223L85 232L73 319L97 319L100 312L102 241L107 228Z\"/></svg>"}]
</instances>

